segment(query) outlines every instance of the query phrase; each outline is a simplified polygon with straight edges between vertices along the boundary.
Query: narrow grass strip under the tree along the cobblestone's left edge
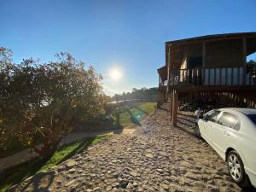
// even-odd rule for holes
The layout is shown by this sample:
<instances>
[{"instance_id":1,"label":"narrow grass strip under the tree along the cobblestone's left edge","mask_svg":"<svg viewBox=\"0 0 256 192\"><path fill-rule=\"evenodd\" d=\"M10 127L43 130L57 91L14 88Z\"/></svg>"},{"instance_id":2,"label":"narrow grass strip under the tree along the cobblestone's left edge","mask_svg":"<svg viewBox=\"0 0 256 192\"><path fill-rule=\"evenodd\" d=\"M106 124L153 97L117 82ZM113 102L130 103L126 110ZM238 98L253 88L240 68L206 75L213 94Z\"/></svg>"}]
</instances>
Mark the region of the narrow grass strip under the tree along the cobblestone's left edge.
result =
<instances>
[{"instance_id":1,"label":"narrow grass strip under the tree along the cobblestone's left edge","mask_svg":"<svg viewBox=\"0 0 256 192\"><path fill-rule=\"evenodd\" d=\"M13 167L11 170L6 172L6 176L3 181L1 181L0 192L7 191L14 184L20 183L26 179L26 177L30 177L36 172L48 170L51 166L55 166L64 160L71 158L74 154L79 154L90 144L96 144L107 140L111 136L111 134L106 134L93 138L82 139L58 148L49 160L43 160L38 157L24 165Z\"/></svg>"}]
</instances>

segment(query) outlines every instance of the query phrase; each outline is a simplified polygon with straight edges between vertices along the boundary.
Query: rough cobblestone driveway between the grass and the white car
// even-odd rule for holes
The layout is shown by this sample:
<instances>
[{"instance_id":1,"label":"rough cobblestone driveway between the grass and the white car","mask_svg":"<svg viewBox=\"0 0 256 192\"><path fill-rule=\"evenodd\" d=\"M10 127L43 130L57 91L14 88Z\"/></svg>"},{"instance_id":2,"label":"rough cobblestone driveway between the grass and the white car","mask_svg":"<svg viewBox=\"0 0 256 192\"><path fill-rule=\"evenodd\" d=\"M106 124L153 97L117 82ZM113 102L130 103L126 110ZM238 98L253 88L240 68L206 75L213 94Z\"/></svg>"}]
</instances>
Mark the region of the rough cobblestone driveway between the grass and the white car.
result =
<instances>
[{"instance_id":1,"label":"rough cobblestone driveway between the grass and the white car","mask_svg":"<svg viewBox=\"0 0 256 192\"><path fill-rule=\"evenodd\" d=\"M12 191L242 191L232 183L224 160L179 116L172 127L157 109L131 135L116 135L90 146Z\"/></svg>"}]
</instances>

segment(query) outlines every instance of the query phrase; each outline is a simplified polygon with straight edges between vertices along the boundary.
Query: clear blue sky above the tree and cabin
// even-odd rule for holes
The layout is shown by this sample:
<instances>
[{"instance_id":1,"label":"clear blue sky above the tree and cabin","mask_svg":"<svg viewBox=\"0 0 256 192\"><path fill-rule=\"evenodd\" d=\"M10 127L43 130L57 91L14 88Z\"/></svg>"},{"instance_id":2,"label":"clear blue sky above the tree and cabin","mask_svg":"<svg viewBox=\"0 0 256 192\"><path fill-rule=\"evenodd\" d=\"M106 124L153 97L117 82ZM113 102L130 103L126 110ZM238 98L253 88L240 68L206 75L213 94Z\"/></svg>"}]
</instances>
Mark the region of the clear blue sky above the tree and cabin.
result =
<instances>
[{"instance_id":1,"label":"clear blue sky above the tree and cabin","mask_svg":"<svg viewBox=\"0 0 256 192\"><path fill-rule=\"evenodd\" d=\"M255 0L3 0L0 46L16 62L68 51L102 73L113 94L157 86L166 41L256 31L255 10ZM108 77L113 67L118 81Z\"/></svg>"}]
</instances>

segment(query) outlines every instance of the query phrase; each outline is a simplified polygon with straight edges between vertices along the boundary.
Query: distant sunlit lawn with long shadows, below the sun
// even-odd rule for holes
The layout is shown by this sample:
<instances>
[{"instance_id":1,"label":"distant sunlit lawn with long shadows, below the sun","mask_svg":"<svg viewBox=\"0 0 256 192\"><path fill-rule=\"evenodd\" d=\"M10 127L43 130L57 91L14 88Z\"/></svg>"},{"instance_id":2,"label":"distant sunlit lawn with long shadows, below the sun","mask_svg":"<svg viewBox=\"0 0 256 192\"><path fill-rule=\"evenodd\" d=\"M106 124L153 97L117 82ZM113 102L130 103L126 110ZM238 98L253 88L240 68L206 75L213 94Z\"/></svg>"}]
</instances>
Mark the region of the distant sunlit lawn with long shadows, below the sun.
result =
<instances>
[{"instance_id":1,"label":"distant sunlit lawn with long shadows, below the sun","mask_svg":"<svg viewBox=\"0 0 256 192\"><path fill-rule=\"evenodd\" d=\"M118 110L113 110L115 125L134 128L146 115L152 113L156 102L139 102L136 105L121 105Z\"/></svg>"}]
</instances>

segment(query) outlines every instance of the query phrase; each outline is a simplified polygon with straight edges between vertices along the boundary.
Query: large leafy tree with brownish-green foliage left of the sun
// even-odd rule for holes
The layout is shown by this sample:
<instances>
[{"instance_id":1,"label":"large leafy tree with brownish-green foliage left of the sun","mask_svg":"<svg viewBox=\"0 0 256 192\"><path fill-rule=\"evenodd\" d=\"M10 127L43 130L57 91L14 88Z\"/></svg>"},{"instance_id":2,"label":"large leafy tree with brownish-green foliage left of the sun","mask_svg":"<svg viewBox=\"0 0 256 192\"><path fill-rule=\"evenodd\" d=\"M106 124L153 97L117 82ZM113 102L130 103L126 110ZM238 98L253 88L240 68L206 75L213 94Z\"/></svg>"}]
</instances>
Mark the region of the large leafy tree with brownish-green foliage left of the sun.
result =
<instances>
[{"instance_id":1,"label":"large leafy tree with brownish-green foliage left of the sun","mask_svg":"<svg viewBox=\"0 0 256 192\"><path fill-rule=\"evenodd\" d=\"M101 112L102 77L68 53L43 64L32 58L14 64L11 56L0 48L1 147L19 139L48 156L79 122Z\"/></svg>"}]
</instances>

